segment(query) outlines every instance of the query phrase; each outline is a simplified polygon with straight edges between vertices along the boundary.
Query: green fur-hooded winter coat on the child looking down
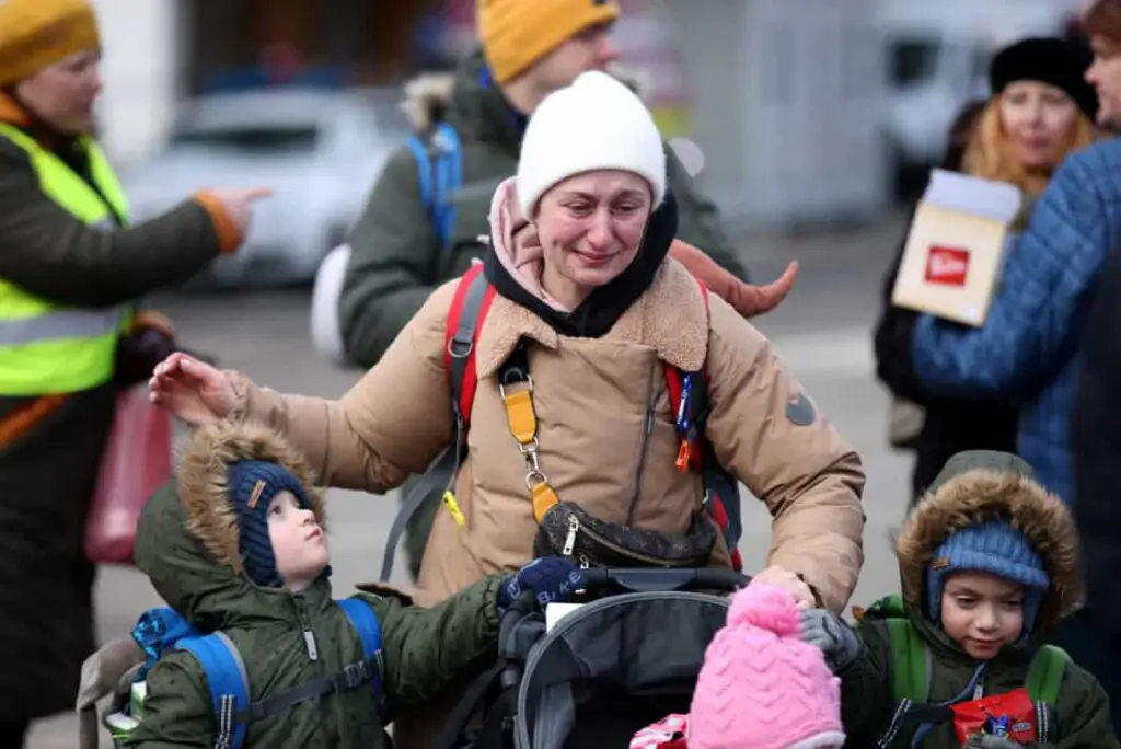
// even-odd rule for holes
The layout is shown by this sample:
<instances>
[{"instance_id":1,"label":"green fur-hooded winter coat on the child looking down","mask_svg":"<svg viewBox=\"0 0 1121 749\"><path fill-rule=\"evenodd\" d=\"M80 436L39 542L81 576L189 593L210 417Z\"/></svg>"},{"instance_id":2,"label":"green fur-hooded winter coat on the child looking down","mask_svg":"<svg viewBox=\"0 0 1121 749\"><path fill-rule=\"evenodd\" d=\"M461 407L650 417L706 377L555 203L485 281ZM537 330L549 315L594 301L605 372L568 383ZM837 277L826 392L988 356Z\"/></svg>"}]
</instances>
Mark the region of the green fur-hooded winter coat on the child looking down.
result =
<instances>
[{"instance_id":1,"label":"green fur-hooded winter coat on the child looking down","mask_svg":"<svg viewBox=\"0 0 1121 749\"><path fill-rule=\"evenodd\" d=\"M992 470L995 453L963 453L951 460L935 481L935 489L911 512L897 542L897 554L907 617L927 644L928 703L958 697L980 663L969 656L924 613L926 570L935 551L955 530L989 520L1004 519L1023 533L1043 557L1050 579L1038 626L1023 644L1006 646L982 672L983 695L1011 692L1025 686L1028 667L1040 645L1039 634L1068 616L1082 597L1078 575L1078 539L1069 511L1028 475ZM1007 456L1011 457L1011 456ZM962 460L964 459L964 460ZM1017 460L1018 459L1013 459ZM858 631L864 654L839 673L846 747L876 747L896 712L892 695L895 648L883 619L864 616ZM972 694L967 699L973 699ZM1041 749L1121 746L1110 723L1109 699L1097 681L1074 663L1067 663L1057 703L1049 705L1049 741ZM897 734L891 747L910 747L915 729ZM923 749L957 749L952 723L935 725L919 745Z\"/></svg>"}]
</instances>

